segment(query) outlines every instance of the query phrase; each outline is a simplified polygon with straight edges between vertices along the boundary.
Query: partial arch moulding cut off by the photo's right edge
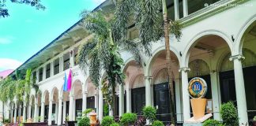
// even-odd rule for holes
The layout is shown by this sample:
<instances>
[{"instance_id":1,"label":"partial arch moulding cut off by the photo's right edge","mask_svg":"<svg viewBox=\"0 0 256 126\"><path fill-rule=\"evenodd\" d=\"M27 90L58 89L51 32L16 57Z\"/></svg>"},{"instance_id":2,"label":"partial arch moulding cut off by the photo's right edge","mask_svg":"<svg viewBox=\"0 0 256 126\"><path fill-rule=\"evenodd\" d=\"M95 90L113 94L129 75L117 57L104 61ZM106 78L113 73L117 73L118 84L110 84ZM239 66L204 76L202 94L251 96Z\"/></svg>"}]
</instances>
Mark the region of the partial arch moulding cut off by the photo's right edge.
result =
<instances>
[{"instance_id":1,"label":"partial arch moulding cut off by the photo's right edge","mask_svg":"<svg viewBox=\"0 0 256 126\"><path fill-rule=\"evenodd\" d=\"M240 28L239 33L236 37L235 41L235 55L236 54L243 54L243 36L250 31L250 28L252 28L256 24L256 14L252 17L250 17L249 20L245 24L243 24L243 27Z\"/></svg>"}]
</instances>

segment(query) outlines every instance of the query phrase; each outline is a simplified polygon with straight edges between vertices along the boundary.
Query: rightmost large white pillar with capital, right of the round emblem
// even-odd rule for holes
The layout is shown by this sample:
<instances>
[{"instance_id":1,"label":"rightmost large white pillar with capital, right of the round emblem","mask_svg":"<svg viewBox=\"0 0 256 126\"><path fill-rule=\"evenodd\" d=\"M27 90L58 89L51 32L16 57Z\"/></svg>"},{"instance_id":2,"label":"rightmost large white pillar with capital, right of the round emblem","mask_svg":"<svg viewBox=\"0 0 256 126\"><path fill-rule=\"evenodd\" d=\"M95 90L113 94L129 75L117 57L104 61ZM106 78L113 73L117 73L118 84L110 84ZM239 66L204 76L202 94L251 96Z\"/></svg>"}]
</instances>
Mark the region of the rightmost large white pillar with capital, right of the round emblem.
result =
<instances>
[{"instance_id":1,"label":"rightmost large white pillar with capital, right of the round emblem","mask_svg":"<svg viewBox=\"0 0 256 126\"><path fill-rule=\"evenodd\" d=\"M245 93L244 80L243 80L243 67L241 60L244 57L242 55L236 55L230 57L231 61L234 61L234 72L235 72L235 93L237 101L237 110L239 116L239 125L248 124L247 115L247 97Z\"/></svg>"}]
</instances>

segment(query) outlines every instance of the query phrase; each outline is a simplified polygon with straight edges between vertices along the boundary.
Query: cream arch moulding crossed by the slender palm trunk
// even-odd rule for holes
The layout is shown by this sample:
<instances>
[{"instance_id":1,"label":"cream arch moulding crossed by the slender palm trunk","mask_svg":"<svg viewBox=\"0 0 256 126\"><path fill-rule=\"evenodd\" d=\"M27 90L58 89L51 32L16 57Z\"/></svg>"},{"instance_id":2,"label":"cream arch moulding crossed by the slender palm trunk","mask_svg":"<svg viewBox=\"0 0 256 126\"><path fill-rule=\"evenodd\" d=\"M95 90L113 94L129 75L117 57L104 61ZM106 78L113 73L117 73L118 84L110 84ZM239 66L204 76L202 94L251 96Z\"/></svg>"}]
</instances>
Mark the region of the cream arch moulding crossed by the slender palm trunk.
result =
<instances>
[{"instance_id":1,"label":"cream arch moulding crossed by the slender palm trunk","mask_svg":"<svg viewBox=\"0 0 256 126\"><path fill-rule=\"evenodd\" d=\"M170 46L170 50L171 50L171 53L175 54L175 57L177 57L179 63L180 63L180 58L179 58L179 53L177 50L175 50L175 48L173 48L172 46ZM152 64L154 62L154 60L156 59L156 57L158 56L158 54L162 53L163 51L165 51L165 46L160 46L158 47L156 50L154 50L152 52L152 57L149 58L149 65L147 65L145 67L145 73L148 74L148 75L152 75ZM180 64L178 63L179 67L180 67ZM147 76L147 75L146 75Z\"/></svg>"}]
</instances>

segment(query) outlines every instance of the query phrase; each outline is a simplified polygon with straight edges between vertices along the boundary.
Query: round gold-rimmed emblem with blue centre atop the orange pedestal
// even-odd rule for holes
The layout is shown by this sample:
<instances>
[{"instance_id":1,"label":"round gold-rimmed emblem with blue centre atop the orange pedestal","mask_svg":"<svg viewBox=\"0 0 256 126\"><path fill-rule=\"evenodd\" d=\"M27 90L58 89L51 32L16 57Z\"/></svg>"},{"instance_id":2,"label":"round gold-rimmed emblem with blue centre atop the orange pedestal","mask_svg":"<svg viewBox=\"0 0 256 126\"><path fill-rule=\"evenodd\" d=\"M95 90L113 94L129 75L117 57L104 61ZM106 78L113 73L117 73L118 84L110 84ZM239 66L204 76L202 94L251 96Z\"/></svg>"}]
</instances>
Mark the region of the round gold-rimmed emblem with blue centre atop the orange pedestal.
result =
<instances>
[{"instance_id":1,"label":"round gold-rimmed emblem with blue centre atop the orange pedestal","mask_svg":"<svg viewBox=\"0 0 256 126\"><path fill-rule=\"evenodd\" d=\"M188 91L191 98L204 98L207 92L207 83L200 77L194 77L189 82Z\"/></svg>"}]
</instances>

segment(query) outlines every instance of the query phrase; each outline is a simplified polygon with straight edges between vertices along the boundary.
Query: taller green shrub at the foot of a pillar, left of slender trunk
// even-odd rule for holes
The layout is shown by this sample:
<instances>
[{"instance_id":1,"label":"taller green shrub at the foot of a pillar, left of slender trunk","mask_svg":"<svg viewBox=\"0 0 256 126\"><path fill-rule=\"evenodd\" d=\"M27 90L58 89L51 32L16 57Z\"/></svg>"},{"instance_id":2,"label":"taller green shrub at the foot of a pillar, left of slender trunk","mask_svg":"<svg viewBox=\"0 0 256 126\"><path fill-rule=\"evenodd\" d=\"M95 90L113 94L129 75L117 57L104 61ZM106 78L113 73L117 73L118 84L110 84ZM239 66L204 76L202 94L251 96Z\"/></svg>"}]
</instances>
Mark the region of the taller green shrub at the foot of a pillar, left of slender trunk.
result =
<instances>
[{"instance_id":1,"label":"taller green shrub at the foot of a pillar, left of slender trunk","mask_svg":"<svg viewBox=\"0 0 256 126\"><path fill-rule=\"evenodd\" d=\"M152 123L156 120L156 109L152 106L147 106L142 109L143 116Z\"/></svg>"}]
</instances>

